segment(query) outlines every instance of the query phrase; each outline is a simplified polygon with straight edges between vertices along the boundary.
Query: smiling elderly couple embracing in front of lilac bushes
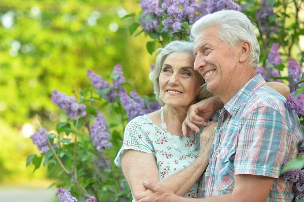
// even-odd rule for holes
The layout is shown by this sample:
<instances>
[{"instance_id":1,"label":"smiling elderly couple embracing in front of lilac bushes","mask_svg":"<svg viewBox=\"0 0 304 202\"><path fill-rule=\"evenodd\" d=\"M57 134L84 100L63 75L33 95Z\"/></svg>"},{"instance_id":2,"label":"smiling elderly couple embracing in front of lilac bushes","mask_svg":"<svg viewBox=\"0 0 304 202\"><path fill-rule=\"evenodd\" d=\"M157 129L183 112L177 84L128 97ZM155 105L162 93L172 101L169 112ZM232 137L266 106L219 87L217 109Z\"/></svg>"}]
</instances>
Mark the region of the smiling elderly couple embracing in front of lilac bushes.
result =
<instances>
[{"instance_id":1,"label":"smiling elderly couple embracing in front of lilac bushes","mask_svg":"<svg viewBox=\"0 0 304 202\"><path fill-rule=\"evenodd\" d=\"M194 46L159 50L150 79L161 110L126 127L115 164L133 201L291 201L292 184L279 176L303 133L284 104L288 87L256 74L250 20L219 11L192 35Z\"/></svg>"}]
</instances>

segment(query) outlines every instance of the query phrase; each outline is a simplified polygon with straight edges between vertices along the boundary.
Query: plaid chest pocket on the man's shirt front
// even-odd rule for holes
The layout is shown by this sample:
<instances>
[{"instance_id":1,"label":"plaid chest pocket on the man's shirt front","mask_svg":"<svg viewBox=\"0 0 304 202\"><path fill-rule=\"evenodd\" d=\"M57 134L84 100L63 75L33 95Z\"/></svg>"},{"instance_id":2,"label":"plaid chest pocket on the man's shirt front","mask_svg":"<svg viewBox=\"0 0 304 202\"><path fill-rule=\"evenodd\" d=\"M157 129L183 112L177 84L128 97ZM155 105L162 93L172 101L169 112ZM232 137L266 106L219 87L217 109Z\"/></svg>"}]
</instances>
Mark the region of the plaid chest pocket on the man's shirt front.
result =
<instances>
[{"instance_id":1,"label":"plaid chest pocket on the man's shirt front","mask_svg":"<svg viewBox=\"0 0 304 202\"><path fill-rule=\"evenodd\" d=\"M215 182L219 190L235 186L234 149L221 148L216 153Z\"/></svg>"}]
</instances>

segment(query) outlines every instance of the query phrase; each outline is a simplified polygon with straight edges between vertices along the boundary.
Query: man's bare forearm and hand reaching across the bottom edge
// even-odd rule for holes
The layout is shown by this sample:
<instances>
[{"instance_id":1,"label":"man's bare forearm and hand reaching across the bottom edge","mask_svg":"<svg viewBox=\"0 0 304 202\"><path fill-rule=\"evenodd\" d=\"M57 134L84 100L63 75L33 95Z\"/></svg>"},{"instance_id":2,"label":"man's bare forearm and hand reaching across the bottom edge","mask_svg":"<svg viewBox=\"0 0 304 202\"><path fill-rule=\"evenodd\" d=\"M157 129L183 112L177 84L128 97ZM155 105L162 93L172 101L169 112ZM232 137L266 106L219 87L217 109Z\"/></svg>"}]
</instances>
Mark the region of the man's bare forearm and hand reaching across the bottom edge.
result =
<instances>
[{"instance_id":1,"label":"man's bare forearm and hand reaching across the bottom edge","mask_svg":"<svg viewBox=\"0 0 304 202\"><path fill-rule=\"evenodd\" d=\"M155 193L138 202L264 202L267 199L274 180L275 178L264 176L236 175L236 186L231 194L196 199L177 196L160 184L146 182L144 185Z\"/></svg>"}]
</instances>

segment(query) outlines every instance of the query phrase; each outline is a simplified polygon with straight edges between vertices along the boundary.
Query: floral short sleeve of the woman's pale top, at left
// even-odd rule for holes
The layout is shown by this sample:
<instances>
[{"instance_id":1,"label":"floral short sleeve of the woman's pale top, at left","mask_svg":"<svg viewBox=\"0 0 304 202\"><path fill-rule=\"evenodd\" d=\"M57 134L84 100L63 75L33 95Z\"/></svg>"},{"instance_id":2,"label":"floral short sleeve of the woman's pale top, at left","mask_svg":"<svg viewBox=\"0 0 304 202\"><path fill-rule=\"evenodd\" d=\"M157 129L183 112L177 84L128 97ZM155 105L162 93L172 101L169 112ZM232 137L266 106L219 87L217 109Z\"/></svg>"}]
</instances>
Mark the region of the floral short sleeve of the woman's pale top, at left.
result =
<instances>
[{"instance_id":1,"label":"floral short sleeve of the woman's pale top, at left","mask_svg":"<svg viewBox=\"0 0 304 202\"><path fill-rule=\"evenodd\" d=\"M118 167L122 167L122 156L125 150L131 149L153 154L153 145L147 132L144 128L141 128L140 118L141 117L134 118L126 126L123 146L114 160L114 164Z\"/></svg>"}]
</instances>

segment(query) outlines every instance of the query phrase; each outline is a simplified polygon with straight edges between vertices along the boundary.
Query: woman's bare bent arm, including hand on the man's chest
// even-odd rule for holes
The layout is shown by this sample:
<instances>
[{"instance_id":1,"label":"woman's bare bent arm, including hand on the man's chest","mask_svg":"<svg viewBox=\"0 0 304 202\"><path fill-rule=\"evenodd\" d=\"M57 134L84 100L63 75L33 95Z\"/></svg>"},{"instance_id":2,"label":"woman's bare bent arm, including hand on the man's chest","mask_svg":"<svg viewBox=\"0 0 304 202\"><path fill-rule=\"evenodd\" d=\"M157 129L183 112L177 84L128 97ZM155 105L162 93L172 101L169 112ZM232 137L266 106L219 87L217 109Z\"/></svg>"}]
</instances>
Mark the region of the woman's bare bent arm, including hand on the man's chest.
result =
<instances>
[{"instance_id":1,"label":"woman's bare bent arm, including hand on the man's chest","mask_svg":"<svg viewBox=\"0 0 304 202\"><path fill-rule=\"evenodd\" d=\"M144 187L144 180L157 182L170 188L175 194L184 196L209 164L210 147L214 137L213 129L216 124L217 122L211 122L202 132L201 152L193 163L163 181L159 180L158 167L153 154L126 150L122 158L122 168L135 199L139 200L154 193Z\"/></svg>"}]
</instances>

